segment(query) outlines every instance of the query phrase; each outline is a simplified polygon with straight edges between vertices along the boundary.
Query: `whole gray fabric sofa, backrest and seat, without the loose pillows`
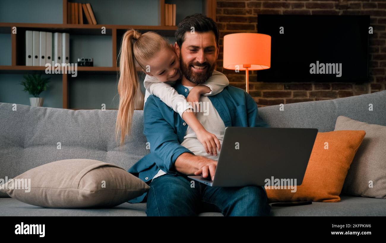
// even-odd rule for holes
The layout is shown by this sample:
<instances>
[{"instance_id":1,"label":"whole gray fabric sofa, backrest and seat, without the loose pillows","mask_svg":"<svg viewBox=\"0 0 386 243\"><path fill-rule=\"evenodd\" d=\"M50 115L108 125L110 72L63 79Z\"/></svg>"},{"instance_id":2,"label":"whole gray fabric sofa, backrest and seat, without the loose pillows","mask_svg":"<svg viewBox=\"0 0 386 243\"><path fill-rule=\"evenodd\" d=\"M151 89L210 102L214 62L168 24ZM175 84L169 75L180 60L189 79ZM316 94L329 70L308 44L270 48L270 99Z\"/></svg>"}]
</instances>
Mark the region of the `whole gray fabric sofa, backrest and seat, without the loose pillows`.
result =
<instances>
[{"instance_id":1,"label":"whole gray fabric sofa, backrest and seat, without the loose pillows","mask_svg":"<svg viewBox=\"0 0 386 243\"><path fill-rule=\"evenodd\" d=\"M368 110L369 103L374 110ZM116 110L67 110L0 103L0 178L57 160L89 158L128 170L146 155L142 111L135 111L132 134L120 151L114 141ZM386 90L355 97L259 108L271 127L333 131L338 116L386 126ZM57 143L61 149L57 149ZM272 207L272 216L386 216L386 200L340 195L338 203ZM0 216L146 216L146 203L122 203L108 209L52 209L28 205L0 194ZM222 216L202 212L200 216Z\"/></svg>"}]
</instances>

